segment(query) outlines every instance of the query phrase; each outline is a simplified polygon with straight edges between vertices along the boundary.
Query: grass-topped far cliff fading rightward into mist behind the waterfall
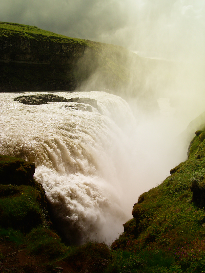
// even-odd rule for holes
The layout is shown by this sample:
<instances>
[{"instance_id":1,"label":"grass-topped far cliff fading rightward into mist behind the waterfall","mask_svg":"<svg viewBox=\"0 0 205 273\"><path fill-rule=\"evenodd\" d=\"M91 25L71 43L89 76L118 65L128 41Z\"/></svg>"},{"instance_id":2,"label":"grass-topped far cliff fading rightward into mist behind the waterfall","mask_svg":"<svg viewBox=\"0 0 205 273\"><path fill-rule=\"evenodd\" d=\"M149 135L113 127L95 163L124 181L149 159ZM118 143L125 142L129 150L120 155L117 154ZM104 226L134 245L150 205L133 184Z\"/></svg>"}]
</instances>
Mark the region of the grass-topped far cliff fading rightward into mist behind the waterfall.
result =
<instances>
[{"instance_id":1,"label":"grass-topped far cliff fading rightward into mist behind the waterfall","mask_svg":"<svg viewBox=\"0 0 205 273\"><path fill-rule=\"evenodd\" d=\"M101 88L150 99L173 84L175 73L172 63L121 46L7 22L0 22L0 63L1 92Z\"/></svg>"}]
</instances>

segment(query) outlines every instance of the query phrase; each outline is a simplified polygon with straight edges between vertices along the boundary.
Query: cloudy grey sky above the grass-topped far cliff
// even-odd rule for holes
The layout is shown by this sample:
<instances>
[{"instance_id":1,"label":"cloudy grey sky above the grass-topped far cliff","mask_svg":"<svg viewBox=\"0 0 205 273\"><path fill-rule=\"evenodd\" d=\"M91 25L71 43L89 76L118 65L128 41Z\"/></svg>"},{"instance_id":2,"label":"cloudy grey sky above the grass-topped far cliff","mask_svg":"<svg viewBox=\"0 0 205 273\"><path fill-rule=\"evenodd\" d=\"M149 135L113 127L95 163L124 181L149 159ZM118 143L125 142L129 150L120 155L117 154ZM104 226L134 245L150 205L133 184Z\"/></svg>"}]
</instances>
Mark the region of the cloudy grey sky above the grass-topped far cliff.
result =
<instances>
[{"instance_id":1,"label":"cloudy grey sky above the grass-topped far cliff","mask_svg":"<svg viewBox=\"0 0 205 273\"><path fill-rule=\"evenodd\" d=\"M204 57L204 0L0 0L0 21L118 44L148 57Z\"/></svg>"}]
</instances>

